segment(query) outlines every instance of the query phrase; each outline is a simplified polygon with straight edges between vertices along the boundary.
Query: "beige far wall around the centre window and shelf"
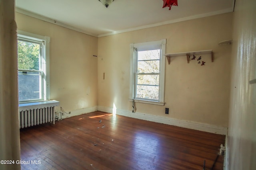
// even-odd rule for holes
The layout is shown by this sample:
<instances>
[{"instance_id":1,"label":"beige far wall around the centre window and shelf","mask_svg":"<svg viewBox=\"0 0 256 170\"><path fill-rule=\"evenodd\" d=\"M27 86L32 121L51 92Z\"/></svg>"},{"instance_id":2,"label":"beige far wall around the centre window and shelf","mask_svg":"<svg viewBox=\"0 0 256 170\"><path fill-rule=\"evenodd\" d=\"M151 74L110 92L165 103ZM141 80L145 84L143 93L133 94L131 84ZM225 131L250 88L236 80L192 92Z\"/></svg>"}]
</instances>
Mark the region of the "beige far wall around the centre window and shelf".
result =
<instances>
[{"instance_id":1,"label":"beige far wall around the centre window and shelf","mask_svg":"<svg viewBox=\"0 0 256 170\"><path fill-rule=\"evenodd\" d=\"M232 13L120 33L98 39L98 106L132 111L129 99L130 43L167 39L166 53L212 49L215 61L166 62L165 106L136 103L137 113L228 126ZM199 56L197 56L199 57ZM105 79L103 80L103 73ZM165 107L170 108L169 115Z\"/></svg>"}]
</instances>

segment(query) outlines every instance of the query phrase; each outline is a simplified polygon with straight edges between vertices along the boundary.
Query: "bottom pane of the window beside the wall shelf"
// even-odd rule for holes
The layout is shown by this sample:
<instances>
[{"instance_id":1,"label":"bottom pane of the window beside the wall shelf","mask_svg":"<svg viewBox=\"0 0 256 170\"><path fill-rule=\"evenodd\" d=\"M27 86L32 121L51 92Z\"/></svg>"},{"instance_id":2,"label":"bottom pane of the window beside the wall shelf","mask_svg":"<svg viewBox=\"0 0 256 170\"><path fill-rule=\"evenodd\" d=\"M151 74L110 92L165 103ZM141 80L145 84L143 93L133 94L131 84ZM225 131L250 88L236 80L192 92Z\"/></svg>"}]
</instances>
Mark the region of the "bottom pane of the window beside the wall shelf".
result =
<instances>
[{"instance_id":1,"label":"bottom pane of the window beside the wall shelf","mask_svg":"<svg viewBox=\"0 0 256 170\"><path fill-rule=\"evenodd\" d=\"M137 85L136 98L145 98L158 100L158 86L141 86Z\"/></svg>"}]
</instances>

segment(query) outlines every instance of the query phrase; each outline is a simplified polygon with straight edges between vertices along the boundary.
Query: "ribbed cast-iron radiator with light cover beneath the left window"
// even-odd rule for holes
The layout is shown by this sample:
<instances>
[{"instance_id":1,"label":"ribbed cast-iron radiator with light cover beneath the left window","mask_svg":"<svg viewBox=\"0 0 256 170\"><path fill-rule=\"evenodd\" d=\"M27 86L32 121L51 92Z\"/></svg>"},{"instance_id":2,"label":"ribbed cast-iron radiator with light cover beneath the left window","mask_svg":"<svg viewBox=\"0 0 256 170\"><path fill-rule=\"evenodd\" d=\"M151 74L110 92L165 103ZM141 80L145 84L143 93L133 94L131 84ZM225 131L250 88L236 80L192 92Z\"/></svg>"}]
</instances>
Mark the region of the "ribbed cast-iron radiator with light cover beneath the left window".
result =
<instances>
[{"instance_id":1,"label":"ribbed cast-iron radiator with light cover beneath the left window","mask_svg":"<svg viewBox=\"0 0 256 170\"><path fill-rule=\"evenodd\" d=\"M58 101L34 102L19 104L20 128L40 125L43 123L55 124L54 107L58 106Z\"/></svg>"}]
</instances>

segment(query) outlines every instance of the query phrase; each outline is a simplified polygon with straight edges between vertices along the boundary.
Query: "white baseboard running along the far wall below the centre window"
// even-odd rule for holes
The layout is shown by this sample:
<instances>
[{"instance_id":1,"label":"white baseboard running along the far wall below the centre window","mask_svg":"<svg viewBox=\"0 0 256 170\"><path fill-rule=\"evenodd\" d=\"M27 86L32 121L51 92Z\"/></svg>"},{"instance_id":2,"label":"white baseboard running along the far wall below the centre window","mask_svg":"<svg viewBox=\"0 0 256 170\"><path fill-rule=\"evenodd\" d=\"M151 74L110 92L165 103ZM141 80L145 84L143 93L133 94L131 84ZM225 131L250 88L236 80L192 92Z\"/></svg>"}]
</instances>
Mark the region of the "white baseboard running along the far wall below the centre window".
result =
<instances>
[{"instance_id":1,"label":"white baseboard running along the far wall below the centre window","mask_svg":"<svg viewBox=\"0 0 256 170\"><path fill-rule=\"evenodd\" d=\"M109 107L98 106L97 108L98 108L98 111L113 113L113 109L109 108ZM194 130L198 130L198 131L220 134L220 135L227 134L227 127L219 127L219 126L209 125L209 124L204 124L204 123L199 123L199 122L160 117L160 116L156 116L156 115L149 115L146 113L138 113L138 112L132 113L130 111L125 111L125 110L120 110L120 109L116 109L116 114L123 115L126 117L132 117L132 118L136 118L136 119L142 119L142 120L153 121L153 122L157 122L157 123L163 123L163 124L167 124L167 125L173 125L173 126L184 127L184 128L188 128L188 129L194 129Z\"/></svg>"}]
</instances>

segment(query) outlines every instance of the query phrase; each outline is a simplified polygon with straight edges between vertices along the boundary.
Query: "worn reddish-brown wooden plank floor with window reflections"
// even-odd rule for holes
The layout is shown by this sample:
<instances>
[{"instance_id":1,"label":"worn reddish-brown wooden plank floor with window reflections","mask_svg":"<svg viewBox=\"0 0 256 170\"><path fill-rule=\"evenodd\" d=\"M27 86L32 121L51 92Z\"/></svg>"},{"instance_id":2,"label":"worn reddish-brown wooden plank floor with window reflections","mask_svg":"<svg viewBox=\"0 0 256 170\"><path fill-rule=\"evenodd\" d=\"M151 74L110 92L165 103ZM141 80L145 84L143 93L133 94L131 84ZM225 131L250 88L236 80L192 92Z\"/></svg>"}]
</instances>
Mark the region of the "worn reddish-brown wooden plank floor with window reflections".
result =
<instances>
[{"instance_id":1,"label":"worn reddish-brown wooden plank floor with window reflections","mask_svg":"<svg viewBox=\"0 0 256 170\"><path fill-rule=\"evenodd\" d=\"M204 160L210 170L224 143L223 135L101 111L20 130L24 170L202 170ZM223 170L223 156L213 170Z\"/></svg>"}]
</instances>

